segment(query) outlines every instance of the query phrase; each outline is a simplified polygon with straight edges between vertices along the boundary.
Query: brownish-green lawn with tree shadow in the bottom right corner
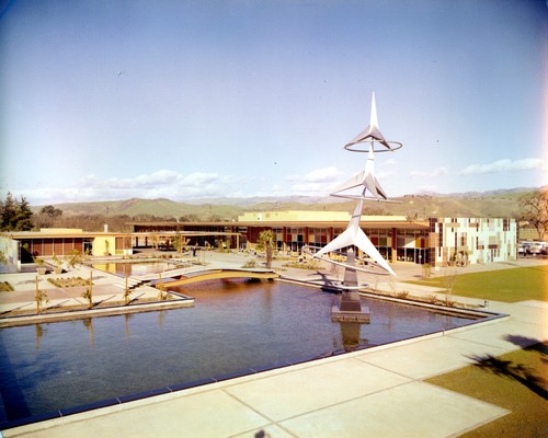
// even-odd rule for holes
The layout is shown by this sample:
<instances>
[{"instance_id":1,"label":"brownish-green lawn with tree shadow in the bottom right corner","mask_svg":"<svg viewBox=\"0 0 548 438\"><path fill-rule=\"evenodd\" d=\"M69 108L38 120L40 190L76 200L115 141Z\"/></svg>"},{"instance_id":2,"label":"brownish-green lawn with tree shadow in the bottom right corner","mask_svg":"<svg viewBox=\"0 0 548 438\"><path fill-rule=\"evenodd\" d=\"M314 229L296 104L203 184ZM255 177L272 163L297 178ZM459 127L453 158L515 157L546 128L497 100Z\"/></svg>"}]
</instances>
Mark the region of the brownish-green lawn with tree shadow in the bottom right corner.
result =
<instances>
[{"instance_id":1,"label":"brownish-green lawn with tree shadow in the bottom right corner","mask_svg":"<svg viewBox=\"0 0 548 438\"><path fill-rule=\"evenodd\" d=\"M463 437L541 437L548 430L547 373L547 346L537 344L500 357L477 358L475 365L426 382L511 411Z\"/></svg>"}]
</instances>

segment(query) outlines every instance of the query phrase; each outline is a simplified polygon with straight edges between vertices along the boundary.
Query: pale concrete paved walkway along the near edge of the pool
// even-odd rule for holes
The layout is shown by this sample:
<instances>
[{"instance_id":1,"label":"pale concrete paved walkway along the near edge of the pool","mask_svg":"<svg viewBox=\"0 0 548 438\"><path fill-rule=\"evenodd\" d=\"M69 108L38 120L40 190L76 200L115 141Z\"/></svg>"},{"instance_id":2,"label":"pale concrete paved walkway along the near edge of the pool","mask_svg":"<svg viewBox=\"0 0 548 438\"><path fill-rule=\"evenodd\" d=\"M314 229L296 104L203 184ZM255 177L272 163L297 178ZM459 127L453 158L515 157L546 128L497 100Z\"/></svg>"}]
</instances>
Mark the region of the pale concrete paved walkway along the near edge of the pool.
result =
<instances>
[{"instance_id":1,"label":"pale concrete paved walkway along the near edge of the pool","mask_svg":"<svg viewBox=\"0 0 548 438\"><path fill-rule=\"evenodd\" d=\"M400 274L402 269L398 269ZM453 437L507 411L424 382L548 339L548 303L509 318L3 431L4 437Z\"/></svg>"}]
</instances>

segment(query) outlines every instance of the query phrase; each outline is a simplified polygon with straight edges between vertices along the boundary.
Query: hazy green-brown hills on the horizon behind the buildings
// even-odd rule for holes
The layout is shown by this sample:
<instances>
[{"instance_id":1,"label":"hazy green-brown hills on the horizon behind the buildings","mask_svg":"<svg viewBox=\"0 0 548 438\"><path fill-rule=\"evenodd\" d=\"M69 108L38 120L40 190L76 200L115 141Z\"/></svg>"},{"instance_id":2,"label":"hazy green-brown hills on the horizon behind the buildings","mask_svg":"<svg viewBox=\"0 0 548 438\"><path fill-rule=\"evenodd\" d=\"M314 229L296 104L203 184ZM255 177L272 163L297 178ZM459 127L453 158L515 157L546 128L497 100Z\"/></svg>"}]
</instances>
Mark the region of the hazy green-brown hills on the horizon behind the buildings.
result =
<instances>
[{"instance_id":1,"label":"hazy green-brown hills on the horizon behind the buildings","mask_svg":"<svg viewBox=\"0 0 548 438\"><path fill-rule=\"evenodd\" d=\"M406 195L392 198L400 204L365 203L365 212L370 215L401 215L415 219L429 217L512 217L518 211L520 196L536 188L509 191L456 193L450 195ZM129 216L136 220L151 217L191 220L236 220L244 211L326 210L352 211L353 200L332 197L267 197L267 198L216 198L199 201L174 201L170 199L139 199L56 204L54 207L67 216ZM37 212L42 206L33 207Z\"/></svg>"}]
</instances>

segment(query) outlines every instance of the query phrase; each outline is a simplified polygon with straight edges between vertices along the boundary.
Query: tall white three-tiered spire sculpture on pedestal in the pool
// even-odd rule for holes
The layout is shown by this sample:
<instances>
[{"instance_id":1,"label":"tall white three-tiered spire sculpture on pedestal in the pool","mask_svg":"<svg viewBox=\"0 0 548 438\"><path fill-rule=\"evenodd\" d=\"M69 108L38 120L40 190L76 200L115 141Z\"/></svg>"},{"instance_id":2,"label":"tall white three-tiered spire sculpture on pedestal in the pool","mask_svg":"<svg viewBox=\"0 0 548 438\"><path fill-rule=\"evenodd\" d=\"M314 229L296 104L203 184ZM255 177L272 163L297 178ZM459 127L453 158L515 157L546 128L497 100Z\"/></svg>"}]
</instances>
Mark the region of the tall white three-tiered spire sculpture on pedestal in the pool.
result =
<instances>
[{"instance_id":1,"label":"tall white three-tiered spire sculpture on pedestal in the pool","mask_svg":"<svg viewBox=\"0 0 548 438\"><path fill-rule=\"evenodd\" d=\"M359 219L362 217L364 200L376 200L380 203L391 201L388 199L386 192L375 176L375 152L395 151L401 147L402 143L400 142L387 141L385 136L380 132L377 120L375 93L373 93L369 126L359 132L351 142L344 146L344 149L351 152L367 153L365 169L356 173L331 194L331 196L335 197L357 199L354 214L351 217L346 230L344 230L342 234L338 235L321 250L316 253L311 253L308 247L305 249L306 252L316 258L344 266L344 281L340 287L340 289L343 290L343 293L339 308L333 307L331 313L333 320L369 322L370 319L368 310L363 311L359 303L359 295L357 292L359 289L359 285L357 283L357 272L359 270L374 274L379 274L379 272L372 270L367 267L356 266L354 251L352 250L353 245L357 246L374 260L375 263L367 262L367 266L376 269L380 268L383 274L391 274L396 276L396 273L392 270L388 262L380 255L378 250L359 227ZM359 191L357 194L349 193L355 188L358 188ZM323 255L330 252L336 252L346 247L349 250L346 251L346 263L344 264L323 257Z\"/></svg>"}]
</instances>

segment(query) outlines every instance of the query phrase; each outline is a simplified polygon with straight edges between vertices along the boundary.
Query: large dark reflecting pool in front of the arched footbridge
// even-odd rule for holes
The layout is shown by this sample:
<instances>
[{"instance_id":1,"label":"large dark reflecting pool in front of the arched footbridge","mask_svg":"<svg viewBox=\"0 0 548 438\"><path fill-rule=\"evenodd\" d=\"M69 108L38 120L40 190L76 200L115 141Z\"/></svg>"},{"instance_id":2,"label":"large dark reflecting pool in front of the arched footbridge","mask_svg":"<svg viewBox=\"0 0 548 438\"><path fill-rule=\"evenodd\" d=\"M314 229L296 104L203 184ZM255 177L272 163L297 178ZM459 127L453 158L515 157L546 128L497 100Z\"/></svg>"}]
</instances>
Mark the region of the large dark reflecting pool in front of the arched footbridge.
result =
<instances>
[{"instance_id":1,"label":"large dark reflecting pool in front of the arched footbridge","mask_svg":"<svg viewBox=\"0 0 548 438\"><path fill-rule=\"evenodd\" d=\"M370 324L333 323L330 311L336 296L278 281L216 280L179 291L195 297L195 307L2 328L4 420L471 322L363 299L373 314Z\"/></svg>"}]
</instances>

